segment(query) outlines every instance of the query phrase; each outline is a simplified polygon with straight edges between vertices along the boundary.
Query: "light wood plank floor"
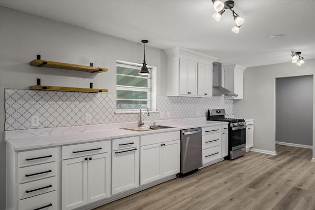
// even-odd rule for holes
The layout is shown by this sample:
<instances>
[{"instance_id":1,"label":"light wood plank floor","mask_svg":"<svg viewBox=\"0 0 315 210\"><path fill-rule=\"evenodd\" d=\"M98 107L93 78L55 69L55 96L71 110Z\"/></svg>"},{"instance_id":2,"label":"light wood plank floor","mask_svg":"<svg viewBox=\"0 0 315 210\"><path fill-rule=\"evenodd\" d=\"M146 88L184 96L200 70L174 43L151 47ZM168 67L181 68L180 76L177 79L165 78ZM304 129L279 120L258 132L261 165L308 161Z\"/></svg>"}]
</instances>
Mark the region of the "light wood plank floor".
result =
<instances>
[{"instance_id":1,"label":"light wood plank floor","mask_svg":"<svg viewBox=\"0 0 315 210\"><path fill-rule=\"evenodd\" d=\"M95 210L315 210L312 149L276 151L250 151Z\"/></svg>"}]
</instances>

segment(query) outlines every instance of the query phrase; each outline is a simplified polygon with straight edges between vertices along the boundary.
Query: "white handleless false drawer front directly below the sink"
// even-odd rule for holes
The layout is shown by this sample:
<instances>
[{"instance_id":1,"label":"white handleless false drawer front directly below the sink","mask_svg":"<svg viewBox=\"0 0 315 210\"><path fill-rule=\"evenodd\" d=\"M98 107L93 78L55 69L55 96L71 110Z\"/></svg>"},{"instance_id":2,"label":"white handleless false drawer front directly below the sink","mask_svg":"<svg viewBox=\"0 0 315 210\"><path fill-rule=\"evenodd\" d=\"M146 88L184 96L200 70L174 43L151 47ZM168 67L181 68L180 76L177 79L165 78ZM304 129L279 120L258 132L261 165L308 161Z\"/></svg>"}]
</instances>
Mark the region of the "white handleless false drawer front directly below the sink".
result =
<instances>
[{"instance_id":1,"label":"white handleless false drawer front directly below the sink","mask_svg":"<svg viewBox=\"0 0 315 210\"><path fill-rule=\"evenodd\" d=\"M161 142L169 142L180 139L180 131L150 134L140 137L140 146L153 145Z\"/></svg>"}]
</instances>

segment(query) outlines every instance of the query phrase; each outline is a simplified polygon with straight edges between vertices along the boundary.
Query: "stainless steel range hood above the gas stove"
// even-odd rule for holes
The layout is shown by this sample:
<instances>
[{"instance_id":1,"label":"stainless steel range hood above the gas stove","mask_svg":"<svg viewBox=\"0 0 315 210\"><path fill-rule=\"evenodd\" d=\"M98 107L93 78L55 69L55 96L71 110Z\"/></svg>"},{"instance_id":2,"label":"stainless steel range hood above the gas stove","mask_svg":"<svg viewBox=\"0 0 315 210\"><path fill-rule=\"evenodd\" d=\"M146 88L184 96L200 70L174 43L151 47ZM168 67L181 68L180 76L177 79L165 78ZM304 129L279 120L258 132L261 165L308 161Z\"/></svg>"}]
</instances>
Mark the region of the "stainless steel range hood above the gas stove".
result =
<instances>
[{"instance_id":1,"label":"stainless steel range hood above the gas stove","mask_svg":"<svg viewBox=\"0 0 315 210\"><path fill-rule=\"evenodd\" d=\"M222 64L220 62L213 63L213 89L212 95L237 96L234 92L222 87Z\"/></svg>"}]
</instances>

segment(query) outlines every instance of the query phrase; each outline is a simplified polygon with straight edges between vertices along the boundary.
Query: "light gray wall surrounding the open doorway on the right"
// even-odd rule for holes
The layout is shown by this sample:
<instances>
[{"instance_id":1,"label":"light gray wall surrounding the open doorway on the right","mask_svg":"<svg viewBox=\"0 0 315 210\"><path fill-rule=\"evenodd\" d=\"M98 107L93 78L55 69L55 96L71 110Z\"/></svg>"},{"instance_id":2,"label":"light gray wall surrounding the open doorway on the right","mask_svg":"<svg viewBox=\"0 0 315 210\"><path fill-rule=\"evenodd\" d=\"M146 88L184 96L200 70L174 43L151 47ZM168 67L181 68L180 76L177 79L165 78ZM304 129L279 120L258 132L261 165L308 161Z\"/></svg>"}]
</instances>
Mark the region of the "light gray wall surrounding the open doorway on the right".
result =
<instances>
[{"instance_id":1,"label":"light gray wall surrounding the open doorway on the right","mask_svg":"<svg viewBox=\"0 0 315 210\"><path fill-rule=\"evenodd\" d=\"M288 57L290 53L288 51ZM254 148L275 151L275 78L314 75L315 59L302 66L291 62L247 68L244 71L244 99L234 100L237 118L254 119ZM311 93L312 91L310 91ZM315 83L313 85L313 145L315 145ZM313 150L315 158L315 150Z\"/></svg>"}]
</instances>

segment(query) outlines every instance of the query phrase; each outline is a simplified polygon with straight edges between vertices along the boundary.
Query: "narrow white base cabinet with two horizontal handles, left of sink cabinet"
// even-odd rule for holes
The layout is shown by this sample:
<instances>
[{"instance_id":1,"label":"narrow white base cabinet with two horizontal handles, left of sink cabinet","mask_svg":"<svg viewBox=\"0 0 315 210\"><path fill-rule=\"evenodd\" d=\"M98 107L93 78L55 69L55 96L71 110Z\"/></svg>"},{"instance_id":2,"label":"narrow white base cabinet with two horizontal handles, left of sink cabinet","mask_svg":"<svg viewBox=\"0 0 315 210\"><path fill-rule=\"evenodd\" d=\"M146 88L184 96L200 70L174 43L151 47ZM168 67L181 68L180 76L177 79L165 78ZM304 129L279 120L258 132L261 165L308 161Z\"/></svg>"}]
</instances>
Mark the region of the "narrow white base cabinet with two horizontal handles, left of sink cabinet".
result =
<instances>
[{"instance_id":1,"label":"narrow white base cabinet with two horizontal handles, left of sink cabinet","mask_svg":"<svg viewBox=\"0 0 315 210\"><path fill-rule=\"evenodd\" d=\"M139 141L139 136L113 140L112 195L139 186Z\"/></svg>"}]
</instances>

